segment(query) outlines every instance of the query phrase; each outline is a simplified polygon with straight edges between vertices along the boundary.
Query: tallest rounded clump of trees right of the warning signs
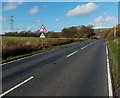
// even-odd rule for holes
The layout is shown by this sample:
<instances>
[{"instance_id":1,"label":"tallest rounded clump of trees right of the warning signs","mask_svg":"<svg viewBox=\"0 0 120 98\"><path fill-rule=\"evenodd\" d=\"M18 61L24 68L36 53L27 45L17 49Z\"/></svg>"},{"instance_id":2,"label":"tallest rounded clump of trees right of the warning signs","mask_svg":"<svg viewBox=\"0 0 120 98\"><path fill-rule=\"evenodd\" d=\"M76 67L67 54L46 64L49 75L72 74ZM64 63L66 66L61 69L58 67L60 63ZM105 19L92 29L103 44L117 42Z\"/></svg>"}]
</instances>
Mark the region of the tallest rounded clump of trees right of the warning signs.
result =
<instances>
[{"instance_id":1,"label":"tallest rounded clump of trees right of the warning signs","mask_svg":"<svg viewBox=\"0 0 120 98\"><path fill-rule=\"evenodd\" d=\"M90 38L95 35L92 25L64 28L61 32L65 38Z\"/></svg>"}]
</instances>

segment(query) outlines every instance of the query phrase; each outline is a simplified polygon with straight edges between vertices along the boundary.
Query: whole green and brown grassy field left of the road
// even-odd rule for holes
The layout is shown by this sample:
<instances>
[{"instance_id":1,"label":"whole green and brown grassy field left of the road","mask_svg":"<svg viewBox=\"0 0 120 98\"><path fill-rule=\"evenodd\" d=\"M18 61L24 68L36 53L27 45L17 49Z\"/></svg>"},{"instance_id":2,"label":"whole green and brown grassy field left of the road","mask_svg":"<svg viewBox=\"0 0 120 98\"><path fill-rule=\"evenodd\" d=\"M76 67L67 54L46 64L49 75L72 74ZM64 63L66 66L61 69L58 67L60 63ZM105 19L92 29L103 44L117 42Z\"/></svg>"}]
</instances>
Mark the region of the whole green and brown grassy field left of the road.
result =
<instances>
[{"instance_id":1,"label":"whole green and brown grassy field left of the road","mask_svg":"<svg viewBox=\"0 0 120 98\"><path fill-rule=\"evenodd\" d=\"M3 62L10 61L34 54L34 51L42 52L53 47L69 44L72 42L81 41L80 39L65 39L65 38L46 38L38 37L2 37L2 59ZM34 53L33 53L34 52ZM22 56L21 56L22 55Z\"/></svg>"}]
</instances>

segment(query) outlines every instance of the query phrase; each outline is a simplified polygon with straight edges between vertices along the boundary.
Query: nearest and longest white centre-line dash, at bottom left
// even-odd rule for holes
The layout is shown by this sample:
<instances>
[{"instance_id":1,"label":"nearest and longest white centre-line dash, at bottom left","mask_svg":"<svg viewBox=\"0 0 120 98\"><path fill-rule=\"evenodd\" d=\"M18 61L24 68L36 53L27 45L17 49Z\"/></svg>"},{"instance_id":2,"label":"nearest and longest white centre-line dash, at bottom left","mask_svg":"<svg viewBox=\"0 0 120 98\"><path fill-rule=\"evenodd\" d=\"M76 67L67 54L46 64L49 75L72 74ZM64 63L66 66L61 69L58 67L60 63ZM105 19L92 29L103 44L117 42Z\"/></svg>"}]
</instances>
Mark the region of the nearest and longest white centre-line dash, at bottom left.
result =
<instances>
[{"instance_id":1,"label":"nearest and longest white centre-line dash, at bottom left","mask_svg":"<svg viewBox=\"0 0 120 98\"><path fill-rule=\"evenodd\" d=\"M13 91L14 89L18 88L19 86L21 86L21 85L25 84L26 82L30 81L30 80L31 80L31 79L33 79L33 78L34 78L34 77L33 77L33 76L31 76L30 78L28 78L28 79L24 80L24 81L23 81L23 82L21 82L20 84L17 84L17 85L16 85L16 86L14 86L13 88L11 88L11 89L9 89L9 90L5 91L4 93L2 93L2 94L0 95L0 97L2 97L2 96L4 96L4 95L8 94L9 92L11 92L11 91Z\"/></svg>"}]
</instances>

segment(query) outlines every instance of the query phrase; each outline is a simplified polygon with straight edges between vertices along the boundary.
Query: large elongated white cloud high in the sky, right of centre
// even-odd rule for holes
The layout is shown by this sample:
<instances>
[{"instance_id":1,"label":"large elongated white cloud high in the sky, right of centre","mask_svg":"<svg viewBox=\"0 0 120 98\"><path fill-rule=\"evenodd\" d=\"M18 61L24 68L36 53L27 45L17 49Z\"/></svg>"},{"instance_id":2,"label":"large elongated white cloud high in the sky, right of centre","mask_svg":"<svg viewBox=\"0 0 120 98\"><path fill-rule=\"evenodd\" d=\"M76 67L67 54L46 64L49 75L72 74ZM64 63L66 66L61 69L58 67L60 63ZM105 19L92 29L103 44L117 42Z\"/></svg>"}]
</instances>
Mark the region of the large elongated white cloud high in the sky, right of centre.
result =
<instances>
[{"instance_id":1,"label":"large elongated white cloud high in the sky, right of centre","mask_svg":"<svg viewBox=\"0 0 120 98\"><path fill-rule=\"evenodd\" d=\"M98 8L98 5L95 3L87 3L85 5L78 5L76 8L68 11L66 16L74 17L74 16L82 16L82 15L90 14L96 11L97 8Z\"/></svg>"}]
</instances>

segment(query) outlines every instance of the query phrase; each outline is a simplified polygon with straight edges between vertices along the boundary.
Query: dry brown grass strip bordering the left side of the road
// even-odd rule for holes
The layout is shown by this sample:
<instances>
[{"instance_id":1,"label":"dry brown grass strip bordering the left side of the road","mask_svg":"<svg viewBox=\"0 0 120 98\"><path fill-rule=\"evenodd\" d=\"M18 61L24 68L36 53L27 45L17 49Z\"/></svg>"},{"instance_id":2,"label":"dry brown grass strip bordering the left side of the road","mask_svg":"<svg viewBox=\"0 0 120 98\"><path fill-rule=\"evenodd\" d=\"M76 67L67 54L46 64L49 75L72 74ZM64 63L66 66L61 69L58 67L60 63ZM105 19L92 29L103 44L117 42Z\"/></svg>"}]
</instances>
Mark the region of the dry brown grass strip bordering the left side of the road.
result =
<instances>
[{"instance_id":1,"label":"dry brown grass strip bordering the left side of the road","mask_svg":"<svg viewBox=\"0 0 120 98\"><path fill-rule=\"evenodd\" d=\"M16 40L15 40L15 39ZM12 40L14 39L14 40ZM17 55L22 55L26 54L32 51L36 50L42 50L43 48L51 47L51 46L58 46L58 45L63 45L63 44L68 44L72 43L75 41L78 41L80 39L51 39L51 40L39 40L36 38L37 41L35 41L35 38L33 41L26 40L25 41L18 41L19 38L12 37L8 38L7 40L3 39L3 44L2 44L2 57L7 58L10 56L17 56Z\"/></svg>"}]
</instances>

